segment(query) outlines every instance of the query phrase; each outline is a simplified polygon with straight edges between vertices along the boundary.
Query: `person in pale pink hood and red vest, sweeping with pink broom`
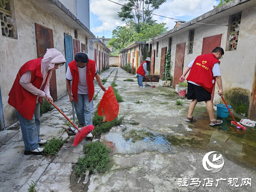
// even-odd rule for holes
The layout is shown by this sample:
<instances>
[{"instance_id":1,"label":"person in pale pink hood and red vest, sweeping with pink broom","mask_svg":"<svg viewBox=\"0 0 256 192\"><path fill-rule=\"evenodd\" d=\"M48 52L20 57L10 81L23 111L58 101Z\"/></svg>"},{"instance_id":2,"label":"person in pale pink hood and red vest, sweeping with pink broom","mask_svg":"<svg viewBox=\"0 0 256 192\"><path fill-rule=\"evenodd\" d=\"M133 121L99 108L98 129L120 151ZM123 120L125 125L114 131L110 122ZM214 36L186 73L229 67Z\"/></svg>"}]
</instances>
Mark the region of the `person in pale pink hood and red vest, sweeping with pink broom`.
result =
<instances>
[{"instance_id":1,"label":"person in pale pink hood and red vest, sweeping with pink broom","mask_svg":"<svg viewBox=\"0 0 256 192\"><path fill-rule=\"evenodd\" d=\"M52 71L65 62L61 52L54 48L47 49L42 58L26 62L16 76L8 103L17 110L25 145L24 155L40 155L44 150L39 147L47 142L40 138L39 103L42 104L43 98L53 102L50 96Z\"/></svg>"}]
</instances>

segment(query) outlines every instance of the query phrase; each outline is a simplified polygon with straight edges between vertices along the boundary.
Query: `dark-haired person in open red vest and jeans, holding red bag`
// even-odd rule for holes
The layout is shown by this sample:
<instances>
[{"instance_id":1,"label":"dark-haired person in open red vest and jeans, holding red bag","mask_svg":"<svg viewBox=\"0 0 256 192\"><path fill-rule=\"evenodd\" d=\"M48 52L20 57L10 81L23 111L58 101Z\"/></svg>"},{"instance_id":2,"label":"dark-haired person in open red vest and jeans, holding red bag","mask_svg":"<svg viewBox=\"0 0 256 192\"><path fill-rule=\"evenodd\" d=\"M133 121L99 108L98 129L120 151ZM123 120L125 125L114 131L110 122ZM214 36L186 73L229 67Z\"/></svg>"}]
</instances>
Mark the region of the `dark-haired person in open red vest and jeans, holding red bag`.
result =
<instances>
[{"instance_id":1,"label":"dark-haired person in open red vest and jeans, holding red bag","mask_svg":"<svg viewBox=\"0 0 256 192\"><path fill-rule=\"evenodd\" d=\"M69 100L71 103L74 102L80 127L92 125L94 77L105 92L106 88L102 84L95 61L89 59L86 53L78 52L75 55L75 60L68 64L66 85ZM92 137L92 133L86 137Z\"/></svg>"}]
</instances>

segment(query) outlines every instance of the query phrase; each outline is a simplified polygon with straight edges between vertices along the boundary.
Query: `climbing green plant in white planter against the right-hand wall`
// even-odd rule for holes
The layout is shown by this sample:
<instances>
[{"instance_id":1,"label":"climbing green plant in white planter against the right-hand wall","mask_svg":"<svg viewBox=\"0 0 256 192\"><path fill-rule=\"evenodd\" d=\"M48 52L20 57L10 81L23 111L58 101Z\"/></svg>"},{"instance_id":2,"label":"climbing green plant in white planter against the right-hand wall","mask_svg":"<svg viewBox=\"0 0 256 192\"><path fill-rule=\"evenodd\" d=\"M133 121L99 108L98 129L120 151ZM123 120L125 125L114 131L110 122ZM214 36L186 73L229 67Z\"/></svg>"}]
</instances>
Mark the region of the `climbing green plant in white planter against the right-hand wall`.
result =
<instances>
[{"instance_id":1,"label":"climbing green plant in white planter against the right-hand wall","mask_svg":"<svg viewBox=\"0 0 256 192\"><path fill-rule=\"evenodd\" d=\"M162 73L163 76L159 80L159 85L162 87L170 87L172 82L172 77L170 74L172 68L172 61L171 61L171 50L169 49L166 53L166 65L164 66L164 72Z\"/></svg>"}]
</instances>

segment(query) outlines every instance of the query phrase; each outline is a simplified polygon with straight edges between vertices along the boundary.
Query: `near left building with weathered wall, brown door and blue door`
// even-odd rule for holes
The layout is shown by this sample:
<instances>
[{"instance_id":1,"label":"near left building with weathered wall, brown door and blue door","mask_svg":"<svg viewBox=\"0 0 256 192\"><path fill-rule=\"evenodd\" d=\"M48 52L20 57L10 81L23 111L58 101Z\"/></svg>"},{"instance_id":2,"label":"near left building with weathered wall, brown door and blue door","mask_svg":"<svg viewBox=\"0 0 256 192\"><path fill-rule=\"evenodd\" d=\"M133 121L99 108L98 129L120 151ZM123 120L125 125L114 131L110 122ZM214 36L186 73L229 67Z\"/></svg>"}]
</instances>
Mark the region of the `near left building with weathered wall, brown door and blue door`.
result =
<instances>
[{"instance_id":1,"label":"near left building with weathered wall, brown door and blue door","mask_svg":"<svg viewBox=\"0 0 256 192\"><path fill-rule=\"evenodd\" d=\"M95 36L58 0L2 2L0 120L1 128L4 128L17 120L14 108L7 102L20 67L29 60L42 57L47 48L56 48L62 52L67 67L76 52L88 52L88 39ZM66 67L56 70L50 80L50 92L54 100L66 94Z\"/></svg>"}]
</instances>

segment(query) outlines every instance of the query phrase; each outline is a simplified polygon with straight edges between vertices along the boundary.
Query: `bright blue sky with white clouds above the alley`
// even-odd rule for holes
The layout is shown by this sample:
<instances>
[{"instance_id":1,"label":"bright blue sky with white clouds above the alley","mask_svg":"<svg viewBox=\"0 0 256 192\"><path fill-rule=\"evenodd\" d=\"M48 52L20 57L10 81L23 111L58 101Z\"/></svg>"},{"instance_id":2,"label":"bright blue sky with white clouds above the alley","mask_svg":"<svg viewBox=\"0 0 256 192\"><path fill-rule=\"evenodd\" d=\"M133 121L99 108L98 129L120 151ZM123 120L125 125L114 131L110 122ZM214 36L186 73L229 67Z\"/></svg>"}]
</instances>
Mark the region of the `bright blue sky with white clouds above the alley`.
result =
<instances>
[{"instance_id":1,"label":"bright blue sky with white clouds above the alley","mask_svg":"<svg viewBox=\"0 0 256 192\"><path fill-rule=\"evenodd\" d=\"M125 0L113 0L120 4L125 4ZM213 9L217 5L217 0L167 0L162 4L154 14L160 14L171 18L180 20L191 20ZM105 38L112 37L112 30L117 26L124 26L117 16L121 6L109 2L108 0L90 0L90 30L95 36L105 36ZM175 20L162 18L159 16L153 17L157 23L166 23L168 30L172 29L175 25ZM104 23L104 25L103 25ZM104 30L103 30L104 29Z\"/></svg>"}]
</instances>

